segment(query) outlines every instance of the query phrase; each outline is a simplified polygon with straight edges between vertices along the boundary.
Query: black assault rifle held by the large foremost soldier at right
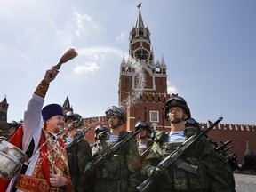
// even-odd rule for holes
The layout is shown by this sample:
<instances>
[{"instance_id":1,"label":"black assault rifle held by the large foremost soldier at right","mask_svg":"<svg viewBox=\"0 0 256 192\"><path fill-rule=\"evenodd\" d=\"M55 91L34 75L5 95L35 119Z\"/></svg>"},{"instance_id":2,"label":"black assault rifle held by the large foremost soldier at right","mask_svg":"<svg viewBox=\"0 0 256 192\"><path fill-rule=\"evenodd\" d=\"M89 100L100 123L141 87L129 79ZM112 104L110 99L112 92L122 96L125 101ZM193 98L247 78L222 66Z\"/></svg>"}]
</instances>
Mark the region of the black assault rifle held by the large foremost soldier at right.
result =
<instances>
[{"instance_id":1,"label":"black assault rifle held by the large foremost soldier at right","mask_svg":"<svg viewBox=\"0 0 256 192\"><path fill-rule=\"evenodd\" d=\"M192 164L188 164L188 163L184 162L183 160L180 159L180 156L182 156L188 150L188 148L194 142L196 142L196 140L198 140L199 138L201 138L202 136L207 134L207 132L212 130L212 128L215 125L219 124L222 119L223 118L220 117L216 122L212 123L206 130L204 130L204 131L201 130L197 134L189 137L188 140L185 140L183 143L181 143L177 148L175 148L174 151L172 151L172 153L169 156L166 156L164 158L164 160L162 160L159 164L156 165L156 172L163 172L164 176L168 182L172 182L172 180L168 174L168 167L171 166L171 164L176 164L180 168L182 168L188 172L193 172L194 174L196 174L197 167ZM150 186L152 184L154 184L154 180L152 180L151 178L148 178L147 180L144 180L144 182L142 182L137 187L137 189L142 192L148 191L148 189L150 188Z\"/></svg>"}]
</instances>

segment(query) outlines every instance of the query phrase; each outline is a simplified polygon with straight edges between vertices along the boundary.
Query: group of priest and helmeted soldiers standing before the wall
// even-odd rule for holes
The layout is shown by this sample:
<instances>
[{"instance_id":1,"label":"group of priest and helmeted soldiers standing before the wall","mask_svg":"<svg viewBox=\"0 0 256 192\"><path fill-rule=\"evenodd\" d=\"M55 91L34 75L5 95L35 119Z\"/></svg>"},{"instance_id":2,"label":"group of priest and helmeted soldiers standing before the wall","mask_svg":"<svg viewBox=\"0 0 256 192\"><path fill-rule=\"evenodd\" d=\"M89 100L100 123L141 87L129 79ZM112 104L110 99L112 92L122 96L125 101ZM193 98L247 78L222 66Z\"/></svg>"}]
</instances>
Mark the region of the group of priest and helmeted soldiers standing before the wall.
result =
<instances>
[{"instance_id":1,"label":"group of priest and helmeted soldiers standing before the wall","mask_svg":"<svg viewBox=\"0 0 256 192\"><path fill-rule=\"evenodd\" d=\"M164 117L171 125L168 132L153 132L147 121L140 120L134 126L134 132L140 133L132 139L133 132L122 129L126 123L124 110L110 106L105 112L108 126L95 128L95 144L91 148L85 132L79 129L81 116L64 114L56 103L43 108L44 97L58 72L56 66L46 70L28 102L23 124L8 138L24 151L29 162L12 180L0 180L0 191L236 191L232 168L204 136L179 161L173 160L164 171L158 169L158 164L180 144L201 131L199 124L189 121L191 113L186 100L175 96L164 103ZM127 139L131 140L104 159L100 167L94 167L101 156ZM152 182L150 188L141 190L138 187L144 180Z\"/></svg>"}]
</instances>

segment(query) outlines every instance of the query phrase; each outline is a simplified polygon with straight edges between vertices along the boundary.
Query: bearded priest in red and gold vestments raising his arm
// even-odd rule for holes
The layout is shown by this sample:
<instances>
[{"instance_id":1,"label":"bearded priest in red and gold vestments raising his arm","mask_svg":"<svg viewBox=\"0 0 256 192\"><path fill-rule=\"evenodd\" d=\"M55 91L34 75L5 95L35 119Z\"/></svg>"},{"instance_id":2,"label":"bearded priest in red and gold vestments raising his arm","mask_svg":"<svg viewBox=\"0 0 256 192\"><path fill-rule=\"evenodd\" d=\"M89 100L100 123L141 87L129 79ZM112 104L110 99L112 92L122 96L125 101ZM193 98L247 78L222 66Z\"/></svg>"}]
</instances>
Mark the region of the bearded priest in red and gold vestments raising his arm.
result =
<instances>
[{"instance_id":1,"label":"bearded priest in red and gold vestments raising his arm","mask_svg":"<svg viewBox=\"0 0 256 192\"><path fill-rule=\"evenodd\" d=\"M57 66L48 69L28 102L23 125L10 142L29 157L12 180L0 180L0 191L69 191L68 157L59 133L65 119L59 104L43 108L49 84L59 73ZM43 109L42 109L43 108ZM42 118L43 117L43 118Z\"/></svg>"}]
</instances>

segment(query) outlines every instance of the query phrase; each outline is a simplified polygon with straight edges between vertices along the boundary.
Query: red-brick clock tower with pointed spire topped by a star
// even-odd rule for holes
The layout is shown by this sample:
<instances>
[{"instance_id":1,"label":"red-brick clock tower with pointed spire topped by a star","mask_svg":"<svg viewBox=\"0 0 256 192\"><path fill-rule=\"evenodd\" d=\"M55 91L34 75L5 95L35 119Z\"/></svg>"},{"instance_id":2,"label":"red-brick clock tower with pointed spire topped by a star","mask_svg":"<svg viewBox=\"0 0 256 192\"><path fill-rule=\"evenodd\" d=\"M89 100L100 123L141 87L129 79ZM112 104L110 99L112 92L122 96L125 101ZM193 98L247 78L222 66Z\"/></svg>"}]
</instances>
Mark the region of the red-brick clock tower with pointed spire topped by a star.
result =
<instances>
[{"instance_id":1,"label":"red-brick clock tower with pointed spire topped by a star","mask_svg":"<svg viewBox=\"0 0 256 192\"><path fill-rule=\"evenodd\" d=\"M119 106L127 114L127 131L134 130L137 121L143 120L154 129L170 127L164 120L164 101L167 93L167 75L164 58L156 60L151 47L150 32L144 26L140 8L129 37L129 58L121 62L119 76Z\"/></svg>"}]
</instances>

